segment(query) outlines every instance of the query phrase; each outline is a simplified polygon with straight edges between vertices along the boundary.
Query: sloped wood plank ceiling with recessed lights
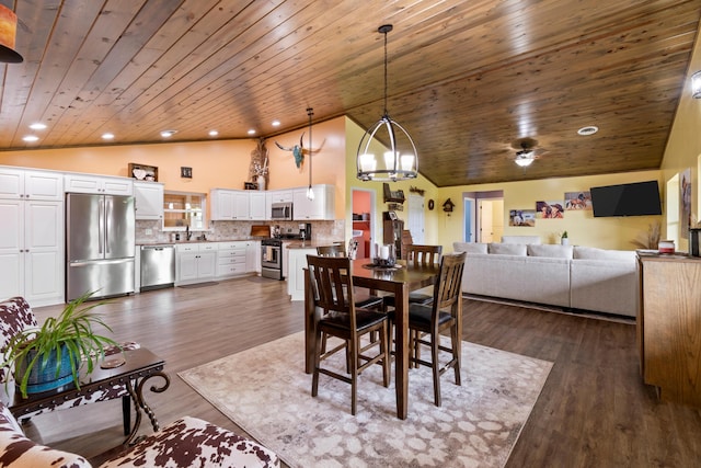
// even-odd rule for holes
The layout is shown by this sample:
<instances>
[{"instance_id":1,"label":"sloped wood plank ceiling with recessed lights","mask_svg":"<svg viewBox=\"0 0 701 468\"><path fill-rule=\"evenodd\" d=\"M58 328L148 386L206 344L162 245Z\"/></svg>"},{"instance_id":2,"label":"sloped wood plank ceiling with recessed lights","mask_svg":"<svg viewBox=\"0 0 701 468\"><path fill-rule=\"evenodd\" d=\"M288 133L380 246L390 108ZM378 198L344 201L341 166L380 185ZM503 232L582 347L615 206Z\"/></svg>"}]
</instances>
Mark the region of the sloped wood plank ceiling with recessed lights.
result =
<instances>
[{"instance_id":1,"label":"sloped wood plank ceiling with recessed lights","mask_svg":"<svg viewBox=\"0 0 701 468\"><path fill-rule=\"evenodd\" d=\"M271 137L388 110L438 186L659 167L701 0L0 0L0 150ZM279 119L280 127L272 122ZM26 144L28 125L44 122ZM577 129L596 125L593 136ZM519 141L538 159L514 163ZM516 147L516 149L515 149Z\"/></svg>"}]
</instances>

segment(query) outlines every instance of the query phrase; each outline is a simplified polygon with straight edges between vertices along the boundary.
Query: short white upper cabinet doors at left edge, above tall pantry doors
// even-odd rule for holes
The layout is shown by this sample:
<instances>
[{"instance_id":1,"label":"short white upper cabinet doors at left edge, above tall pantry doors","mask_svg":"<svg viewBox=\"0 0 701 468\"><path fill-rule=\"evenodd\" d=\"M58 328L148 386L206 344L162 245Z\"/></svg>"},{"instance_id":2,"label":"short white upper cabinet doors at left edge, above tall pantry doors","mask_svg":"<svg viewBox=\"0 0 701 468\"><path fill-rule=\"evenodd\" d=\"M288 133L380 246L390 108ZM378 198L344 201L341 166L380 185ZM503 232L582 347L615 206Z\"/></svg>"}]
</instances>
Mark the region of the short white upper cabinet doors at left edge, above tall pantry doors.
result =
<instances>
[{"instance_id":1,"label":"short white upper cabinet doors at left edge, above tall pantry doors","mask_svg":"<svg viewBox=\"0 0 701 468\"><path fill-rule=\"evenodd\" d=\"M0 198L62 201L64 174L0 168Z\"/></svg>"}]
</instances>

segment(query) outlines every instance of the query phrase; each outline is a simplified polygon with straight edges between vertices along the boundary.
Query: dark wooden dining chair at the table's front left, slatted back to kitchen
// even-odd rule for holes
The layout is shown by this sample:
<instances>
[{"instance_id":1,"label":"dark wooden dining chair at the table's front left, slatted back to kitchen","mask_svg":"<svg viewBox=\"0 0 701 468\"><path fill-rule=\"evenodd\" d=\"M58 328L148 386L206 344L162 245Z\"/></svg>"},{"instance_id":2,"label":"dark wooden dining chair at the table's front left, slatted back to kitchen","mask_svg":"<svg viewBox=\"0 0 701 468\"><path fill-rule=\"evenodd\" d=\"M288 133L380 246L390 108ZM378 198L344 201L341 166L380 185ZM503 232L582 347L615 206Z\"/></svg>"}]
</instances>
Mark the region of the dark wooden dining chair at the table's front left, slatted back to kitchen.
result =
<instances>
[{"instance_id":1,"label":"dark wooden dining chair at the table's front left, slatted back to kitchen","mask_svg":"<svg viewBox=\"0 0 701 468\"><path fill-rule=\"evenodd\" d=\"M307 255L308 275L311 284L314 307L322 311L317 322L314 334L314 372L311 395L319 393L319 374L350 384L350 413L355 415L357 408L358 375L367 367L382 365L382 385L390 383L390 354L387 343L387 315L356 307L353 293L350 260L347 256ZM371 332L379 333L375 345L377 354L368 355L363 349L360 339ZM345 342L345 346L336 346L324 352L321 346L322 335L336 336ZM375 346L372 346L375 347ZM329 367L322 367L323 361L338 352L347 350L346 369L348 375L340 374Z\"/></svg>"}]
</instances>

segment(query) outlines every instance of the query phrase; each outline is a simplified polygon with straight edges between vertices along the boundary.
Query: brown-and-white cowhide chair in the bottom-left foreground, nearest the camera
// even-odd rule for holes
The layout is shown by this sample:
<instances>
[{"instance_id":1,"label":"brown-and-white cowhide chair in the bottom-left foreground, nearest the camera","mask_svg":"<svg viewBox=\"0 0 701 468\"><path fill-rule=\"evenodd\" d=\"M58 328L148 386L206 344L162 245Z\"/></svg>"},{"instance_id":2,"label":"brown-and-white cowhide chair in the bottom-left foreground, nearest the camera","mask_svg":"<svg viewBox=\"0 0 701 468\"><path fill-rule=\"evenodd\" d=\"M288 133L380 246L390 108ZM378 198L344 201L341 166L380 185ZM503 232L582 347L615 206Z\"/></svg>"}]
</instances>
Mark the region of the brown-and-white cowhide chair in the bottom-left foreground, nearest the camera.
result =
<instances>
[{"instance_id":1,"label":"brown-and-white cowhide chair in the bottom-left foreground, nearest the camera","mask_svg":"<svg viewBox=\"0 0 701 468\"><path fill-rule=\"evenodd\" d=\"M91 468L83 457L37 444L24 436L10 410L0 403L0 466ZM146 437L99 468L229 467L273 468L275 453L222 427L185 416Z\"/></svg>"}]
</instances>

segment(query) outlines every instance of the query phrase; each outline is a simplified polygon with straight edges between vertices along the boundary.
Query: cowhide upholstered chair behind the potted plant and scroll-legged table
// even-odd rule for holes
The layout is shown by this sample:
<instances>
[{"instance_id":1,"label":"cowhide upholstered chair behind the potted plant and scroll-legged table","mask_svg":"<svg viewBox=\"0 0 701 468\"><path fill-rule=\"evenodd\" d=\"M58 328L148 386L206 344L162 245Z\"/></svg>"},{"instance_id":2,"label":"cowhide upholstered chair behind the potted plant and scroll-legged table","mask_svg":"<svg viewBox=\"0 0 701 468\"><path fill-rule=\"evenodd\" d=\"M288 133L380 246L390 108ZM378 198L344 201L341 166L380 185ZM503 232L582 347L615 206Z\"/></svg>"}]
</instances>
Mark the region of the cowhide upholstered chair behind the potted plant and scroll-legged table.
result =
<instances>
[{"instance_id":1,"label":"cowhide upholstered chair behind the potted plant and scroll-legged table","mask_svg":"<svg viewBox=\"0 0 701 468\"><path fill-rule=\"evenodd\" d=\"M32 311L32 308L23 297L12 297L3 303L0 303L0 353L3 353L8 343L19 332L27 329L38 327L36 317ZM134 350L139 347L138 343L128 342L122 343L122 349ZM122 352L118 347L112 347L105 350L105 354L115 354ZM5 380L9 375L7 367L0 367L0 391L5 390ZM5 400L9 397L5 398ZM82 396L68 401L59 401L54 406L47 406L42 410L34 411L32 413L23 414L21 421L24 422L35 415L56 411L66 408L74 408L84 403L93 403L99 401L107 401L115 398L122 398L123 418L124 418L124 434L128 434L130 430L130 398L126 384L116 385L114 387L105 388L103 390L91 392L90 395ZM4 401L5 403L8 401Z\"/></svg>"}]
</instances>

